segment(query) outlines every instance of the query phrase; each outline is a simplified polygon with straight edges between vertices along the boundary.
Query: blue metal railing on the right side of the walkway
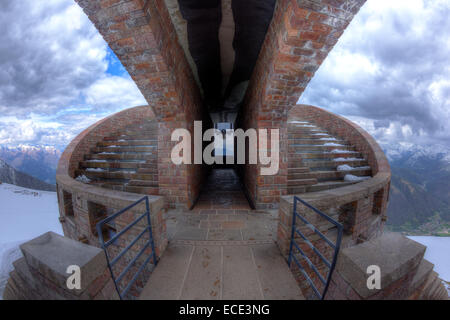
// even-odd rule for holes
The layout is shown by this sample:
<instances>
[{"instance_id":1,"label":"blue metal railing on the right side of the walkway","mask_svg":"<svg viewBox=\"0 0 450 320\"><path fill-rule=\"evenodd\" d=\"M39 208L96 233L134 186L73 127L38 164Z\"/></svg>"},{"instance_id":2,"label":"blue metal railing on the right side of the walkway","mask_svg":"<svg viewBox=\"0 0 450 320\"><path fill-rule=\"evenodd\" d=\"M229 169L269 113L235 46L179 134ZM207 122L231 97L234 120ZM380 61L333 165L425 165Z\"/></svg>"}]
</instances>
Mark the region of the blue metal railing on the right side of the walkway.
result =
<instances>
[{"instance_id":1,"label":"blue metal railing on the right side of the walkway","mask_svg":"<svg viewBox=\"0 0 450 320\"><path fill-rule=\"evenodd\" d=\"M311 209L318 215L320 215L325 220L329 221L330 223L334 224L337 227L337 239L336 243L333 243L330 239L328 239L322 232L320 232L316 227L314 227L308 220L306 220L304 217L302 217L297 212L297 203L300 202L303 205L305 205L307 208ZM327 258L309 241L309 239L296 227L297 219L301 220L307 227L309 227L312 231L314 231L317 235L320 236L331 248L334 249L333 253L333 260L330 262ZM330 284L331 276L334 271L334 267L336 266L336 260L339 253L339 248L341 246L342 241L342 233L343 233L343 226L336 220L332 219L325 213L319 211L318 209L311 206L309 203L303 201L299 197L294 197L294 210L293 210L293 217L292 217L292 234L291 234L291 244L289 248L289 259L288 264L289 267L291 267L292 261L295 262L295 264L298 266L300 272L303 274L305 279L308 281L308 283L311 285L311 288L313 289L314 294L320 299L323 300L327 290L328 286ZM300 246L295 242L295 235L299 235L303 241L311 248L311 250L320 258L320 260L323 262L323 264L328 268L328 272L326 277L324 277L319 270L317 270L317 267L311 262L311 260L307 257L305 252L300 248ZM294 255L294 248L296 251L298 251L301 255L301 257L306 261L308 266L314 271L314 273L319 278L320 282L324 285L324 289L321 292L319 292L319 289L316 287L314 282L311 280L311 277L306 273L305 269L302 267L300 262L297 260L297 258Z\"/></svg>"}]
</instances>

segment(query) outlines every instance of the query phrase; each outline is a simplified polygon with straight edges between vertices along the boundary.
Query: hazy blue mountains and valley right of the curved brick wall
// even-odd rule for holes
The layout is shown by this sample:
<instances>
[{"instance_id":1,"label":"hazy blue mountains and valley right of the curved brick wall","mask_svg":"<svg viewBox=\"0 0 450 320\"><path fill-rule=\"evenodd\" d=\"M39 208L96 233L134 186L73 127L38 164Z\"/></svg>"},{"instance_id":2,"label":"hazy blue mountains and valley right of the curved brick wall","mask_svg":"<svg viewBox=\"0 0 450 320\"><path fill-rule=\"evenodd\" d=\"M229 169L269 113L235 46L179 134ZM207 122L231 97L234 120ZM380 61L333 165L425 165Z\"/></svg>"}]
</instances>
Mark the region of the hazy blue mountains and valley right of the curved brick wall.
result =
<instances>
[{"instance_id":1,"label":"hazy blue mountains and valley right of the curved brick wall","mask_svg":"<svg viewBox=\"0 0 450 320\"><path fill-rule=\"evenodd\" d=\"M388 227L450 236L450 148L397 144L384 149L392 171Z\"/></svg>"}]
</instances>

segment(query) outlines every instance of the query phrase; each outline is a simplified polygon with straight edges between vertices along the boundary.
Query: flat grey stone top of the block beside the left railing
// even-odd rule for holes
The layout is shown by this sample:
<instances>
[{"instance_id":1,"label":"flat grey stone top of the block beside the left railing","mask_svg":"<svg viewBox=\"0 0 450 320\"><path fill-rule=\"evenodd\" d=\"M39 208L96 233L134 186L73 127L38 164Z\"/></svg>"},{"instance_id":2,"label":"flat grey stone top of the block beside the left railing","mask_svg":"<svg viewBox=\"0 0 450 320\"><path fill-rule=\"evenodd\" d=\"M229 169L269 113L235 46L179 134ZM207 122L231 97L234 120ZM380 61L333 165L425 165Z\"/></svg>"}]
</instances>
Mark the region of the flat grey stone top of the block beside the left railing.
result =
<instances>
[{"instance_id":1,"label":"flat grey stone top of the block beside the left railing","mask_svg":"<svg viewBox=\"0 0 450 320\"><path fill-rule=\"evenodd\" d=\"M70 274L67 268L72 265L80 267L81 289L70 290L80 295L89 285L100 277L107 268L105 253L102 249L83 244L53 232L28 241L20 246L28 266L43 277L57 284L64 290Z\"/></svg>"}]
</instances>

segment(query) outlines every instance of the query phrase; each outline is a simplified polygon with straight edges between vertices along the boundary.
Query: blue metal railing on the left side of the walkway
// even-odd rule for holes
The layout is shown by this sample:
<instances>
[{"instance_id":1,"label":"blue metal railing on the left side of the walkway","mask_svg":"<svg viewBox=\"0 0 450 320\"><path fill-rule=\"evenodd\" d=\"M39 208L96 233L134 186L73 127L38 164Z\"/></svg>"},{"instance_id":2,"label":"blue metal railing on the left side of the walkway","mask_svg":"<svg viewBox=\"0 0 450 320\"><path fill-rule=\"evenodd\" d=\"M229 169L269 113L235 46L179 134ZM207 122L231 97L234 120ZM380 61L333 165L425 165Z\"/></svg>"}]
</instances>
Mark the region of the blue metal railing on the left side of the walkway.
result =
<instances>
[{"instance_id":1,"label":"blue metal railing on the left side of the walkway","mask_svg":"<svg viewBox=\"0 0 450 320\"><path fill-rule=\"evenodd\" d=\"M124 214L125 212L131 210L132 208L136 207L137 205L139 205L140 203L145 202L145 213L142 214L141 216L139 216L136 220L134 220L132 223L130 223L129 225L127 225L125 228L123 228L119 233L113 235L111 237L111 239L109 239L108 241L104 241L103 238L103 227L112 222L113 220L115 220L117 217L119 217L120 215ZM134 240L132 240L122 251L119 252L119 254L112 258L110 257L110 255L108 254L108 247L115 244L116 241L123 236L127 231L129 231L132 227L134 227L137 223L139 223L141 220L143 220L144 218L147 218L147 224L148 226L146 228L144 228L144 230L136 237L134 238ZM148 202L148 197L144 197L141 200L133 203L132 205L120 210L119 212L109 216L108 218L100 221L97 224L97 232L98 232L98 236L100 239L100 245L103 248L103 250L105 251L106 254L106 260L108 262L108 268L111 271L111 277L114 280L114 285L116 287L117 293L120 296L120 299L124 299L125 296L127 295L128 291L131 289L132 285L136 282L137 278L139 277L139 275L142 273L142 271L144 271L144 268L146 267L146 265L150 262L150 260L153 259L153 267L156 267L157 264L157 260L156 260L156 253L155 253L155 243L153 241L153 234L152 234L152 223L151 223L151 219L150 219L150 206L149 206L149 202ZM146 244L142 247L142 249L139 251L139 253L127 264L127 266L125 267L125 269L116 277L114 272L113 272L113 267L114 265L139 241L139 239L142 238L142 236L144 236L144 234L146 234L148 232L149 234L149 240L146 242ZM130 271L130 269L135 265L136 261L144 254L145 250L147 248L151 247L151 254L148 256L148 258L145 260L145 262L139 267L138 271L136 272L136 274L133 276L133 278L131 279L131 281L125 286L125 289L123 291L121 291L119 289L119 284L122 282L122 280L124 279L124 276Z\"/></svg>"}]
</instances>

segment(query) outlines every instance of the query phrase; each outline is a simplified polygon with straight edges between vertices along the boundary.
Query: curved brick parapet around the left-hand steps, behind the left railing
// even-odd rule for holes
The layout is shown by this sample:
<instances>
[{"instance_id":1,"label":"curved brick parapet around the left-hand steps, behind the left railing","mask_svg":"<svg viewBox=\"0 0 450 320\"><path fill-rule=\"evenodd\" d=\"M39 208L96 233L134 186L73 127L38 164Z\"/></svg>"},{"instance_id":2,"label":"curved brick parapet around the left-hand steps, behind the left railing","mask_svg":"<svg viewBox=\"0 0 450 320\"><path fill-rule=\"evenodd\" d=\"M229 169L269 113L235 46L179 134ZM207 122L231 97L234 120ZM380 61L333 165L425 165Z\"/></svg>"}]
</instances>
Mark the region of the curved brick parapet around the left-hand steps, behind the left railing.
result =
<instances>
[{"instance_id":1,"label":"curved brick parapet around the left-hand steps, behind the left railing","mask_svg":"<svg viewBox=\"0 0 450 320\"><path fill-rule=\"evenodd\" d=\"M60 211L60 222L64 235L77 241L99 246L95 226L107 215L117 212L143 197L143 195L110 190L75 180L80 161L108 134L133 126L143 119L153 119L148 106L130 108L109 116L79 134L64 151L57 169L56 182ZM167 245L166 227L163 220L164 198L148 196L153 235L157 255L160 256ZM116 232L141 215L143 204L130 210L126 221L116 224ZM139 232L134 230L133 232Z\"/></svg>"}]
</instances>

